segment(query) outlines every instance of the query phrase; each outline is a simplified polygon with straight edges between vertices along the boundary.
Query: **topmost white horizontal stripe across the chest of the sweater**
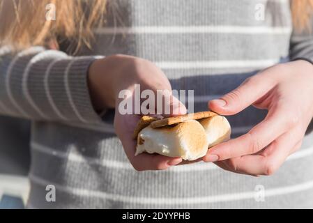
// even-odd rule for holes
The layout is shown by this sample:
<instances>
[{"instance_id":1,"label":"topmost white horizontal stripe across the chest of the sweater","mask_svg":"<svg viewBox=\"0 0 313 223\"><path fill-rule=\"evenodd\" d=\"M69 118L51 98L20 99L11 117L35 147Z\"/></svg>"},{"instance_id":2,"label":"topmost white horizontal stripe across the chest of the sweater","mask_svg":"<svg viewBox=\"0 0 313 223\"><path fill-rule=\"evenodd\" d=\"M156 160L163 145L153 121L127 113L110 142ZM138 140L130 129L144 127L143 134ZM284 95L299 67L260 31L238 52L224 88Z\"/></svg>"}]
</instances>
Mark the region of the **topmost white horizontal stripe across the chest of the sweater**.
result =
<instances>
[{"instance_id":1,"label":"topmost white horizontal stripe across the chest of the sweater","mask_svg":"<svg viewBox=\"0 0 313 223\"><path fill-rule=\"evenodd\" d=\"M132 26L100 27L94 30L98 34L169 34L169 33L231 33L231 34L270 34L291 33L290 26Z\"/></svg>"}]
</instances>

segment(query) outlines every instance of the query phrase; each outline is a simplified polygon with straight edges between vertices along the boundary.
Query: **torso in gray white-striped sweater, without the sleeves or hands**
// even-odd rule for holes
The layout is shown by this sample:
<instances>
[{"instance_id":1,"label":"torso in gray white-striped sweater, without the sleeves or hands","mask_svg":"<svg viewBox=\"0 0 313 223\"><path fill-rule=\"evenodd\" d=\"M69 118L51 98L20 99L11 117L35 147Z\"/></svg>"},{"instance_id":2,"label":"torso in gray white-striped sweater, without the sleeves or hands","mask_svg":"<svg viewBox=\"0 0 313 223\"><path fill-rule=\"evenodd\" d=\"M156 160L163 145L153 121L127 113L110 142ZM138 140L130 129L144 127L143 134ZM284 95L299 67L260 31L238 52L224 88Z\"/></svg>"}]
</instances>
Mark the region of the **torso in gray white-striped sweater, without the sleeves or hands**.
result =
<instances>
[{"instance_id":1,"label":"torso in gray white-striped sweater, without the sleeves or hands","mask_svg":"<svg viewBox=\"0 0 313 223\"><path fill-rule=\"evenodd\" d=\"M255 19L259 1L114 2L107 26L96 30L93 51L86 49L83 54L130 54L153 61L165 72L173 89L194 90L195 112L206 110L208 100L231 91L259 70L288 60L288 1L268 1L264 21ZM33 124L30 207L313 205L313 157L305 155L311 154L312 136L306 137L300 155L268 178L232 174L205 163L139 173L130 166L109 115L112 113L105 117L106 126ZM244 134L265 115L250 107L229 117L232 137ZM45 201L47 184L56 185L54 203ZM259 188L266 190L265 202L254 197Z\"/></svg>"}]
</instances>

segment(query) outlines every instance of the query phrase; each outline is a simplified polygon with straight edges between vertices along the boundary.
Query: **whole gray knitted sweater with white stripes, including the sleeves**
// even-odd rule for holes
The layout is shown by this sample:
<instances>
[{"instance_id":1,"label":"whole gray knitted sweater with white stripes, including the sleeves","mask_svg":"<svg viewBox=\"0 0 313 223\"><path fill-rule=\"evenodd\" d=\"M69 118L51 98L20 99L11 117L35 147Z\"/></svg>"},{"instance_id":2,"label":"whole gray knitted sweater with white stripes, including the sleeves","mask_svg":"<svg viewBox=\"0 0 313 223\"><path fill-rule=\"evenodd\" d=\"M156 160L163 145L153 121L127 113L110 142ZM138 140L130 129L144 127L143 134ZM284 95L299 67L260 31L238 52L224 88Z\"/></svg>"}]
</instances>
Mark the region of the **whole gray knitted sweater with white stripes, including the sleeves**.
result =
<instances>
[{"instance_id":1,"label":"whole gray knitted sweater with white stripes, including the sleeves","mask_svg":"<svg viewBox=\"0 0 313 223\"><path fill-rule=\"evenodd\" d=\"M255 18L257 3L266 7L264 20ZM109 4L106 26L95 29L93 50L82 56L0 49L0 114L32 121L29 208L313 208L312 134L274 176L243 176L204 162L137 172L114 134L114 112L99 117L86 84L92 55L130 54L162 68L173 89L194 89L195 112L206 110L208 100L258 70L313 58L312 36L292 34L289 1ZM232 137L265 115L249 107L229 116ZM56 187L55 202L45 199L47 185Z\"/></svg>"}]
</instances>

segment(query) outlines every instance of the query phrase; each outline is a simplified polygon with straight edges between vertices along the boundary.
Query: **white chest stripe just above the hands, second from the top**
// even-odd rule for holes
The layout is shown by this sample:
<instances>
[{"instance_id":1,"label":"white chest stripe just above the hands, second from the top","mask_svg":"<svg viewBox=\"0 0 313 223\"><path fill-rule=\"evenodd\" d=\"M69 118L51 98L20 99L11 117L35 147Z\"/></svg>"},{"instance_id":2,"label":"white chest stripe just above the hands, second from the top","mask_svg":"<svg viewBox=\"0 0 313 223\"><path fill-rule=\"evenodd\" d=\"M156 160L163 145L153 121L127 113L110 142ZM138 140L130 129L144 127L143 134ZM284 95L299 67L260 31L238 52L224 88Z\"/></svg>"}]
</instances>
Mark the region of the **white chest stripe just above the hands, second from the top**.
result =
<instances>
[{"instance_id":1,"label":"white chest stripe just above the hands, second from the top","mask_svg":"<svg viewBox=\"0 0 313 223\"><path fill-rule=\"evenodd\" d=\"M156 61L155 64L164 70L205 69L205 68L266 68L280 62L280 59L242 60L242 61Z\"/></svg>"}]
</instances>

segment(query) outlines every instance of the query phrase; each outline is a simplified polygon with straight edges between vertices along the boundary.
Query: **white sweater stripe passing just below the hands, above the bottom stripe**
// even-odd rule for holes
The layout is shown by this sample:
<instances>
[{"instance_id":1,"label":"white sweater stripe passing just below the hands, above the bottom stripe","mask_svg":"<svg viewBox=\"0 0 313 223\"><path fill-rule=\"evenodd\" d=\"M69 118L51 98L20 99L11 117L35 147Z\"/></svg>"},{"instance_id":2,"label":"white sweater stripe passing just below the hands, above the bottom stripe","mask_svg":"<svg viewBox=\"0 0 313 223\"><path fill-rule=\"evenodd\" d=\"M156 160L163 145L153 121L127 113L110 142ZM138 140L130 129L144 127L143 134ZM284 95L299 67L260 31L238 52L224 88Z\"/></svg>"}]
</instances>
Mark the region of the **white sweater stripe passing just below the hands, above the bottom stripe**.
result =
<instances>
[{"instance_id":1,"label":"white sweater stripe passing just below the hands, above the bottom stripe","mask_svg":"<svg viewBox=\"0 0 313 223\"><path fill-rule=\"evenodd\" d=\"M80 154L75 153L64 153L62 151L56 151L53 148L49 148L47 146L40 145L36 142L31 142L31 148L33 150L38 151L40 153L46 153L48 155L53 155L56 157L60 157L62 159L68 159L72 162L79 162L79 163L88 163L88 164L97 164L102 167L113 168L113 169L126 169L126 170L133 170L131 164L129 162L121 162L116 160L99 160L90 157L84 157ZM287 160L296 160L303 157L307 157L308 155L313 155L313 146L310 148L302 149L296 153L293 153L289 156ZM176 167L171 167L166 171L174 171L174 172L188 172L188 171L207 171L211 169L217 169L215 164L212 163L205 163L205 162L198 162L197 164L192 165L181 165Z\"/></svg>"}]
</instances>

